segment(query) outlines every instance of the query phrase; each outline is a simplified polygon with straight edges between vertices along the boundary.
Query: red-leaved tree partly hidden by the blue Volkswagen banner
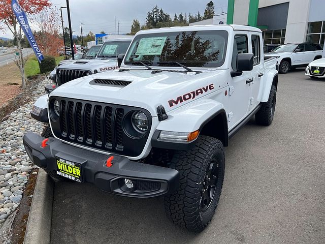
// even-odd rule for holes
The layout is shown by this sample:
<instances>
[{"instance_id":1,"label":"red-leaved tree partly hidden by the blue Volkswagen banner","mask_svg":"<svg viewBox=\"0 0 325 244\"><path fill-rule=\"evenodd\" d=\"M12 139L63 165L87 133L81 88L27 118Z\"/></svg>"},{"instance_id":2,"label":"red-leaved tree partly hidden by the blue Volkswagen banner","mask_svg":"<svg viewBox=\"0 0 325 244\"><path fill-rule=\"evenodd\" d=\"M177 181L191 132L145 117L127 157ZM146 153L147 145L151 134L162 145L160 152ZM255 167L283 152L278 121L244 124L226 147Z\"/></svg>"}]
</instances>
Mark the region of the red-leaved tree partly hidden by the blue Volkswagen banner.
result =
<instances>
[{"instance_id":1,"label":"red-leaved tree partly hidden by the blue Volkswagen banner","mask_svg":"<svg viewBox=\"0 0 325 244\"><path fill-rule=\"evenodd\" d=\"M42 11L44 8L51 6L49 0L19 0L18 2L27 16L35 15ZM0 30L4 31L7 28L9 28L11 33L17 39L19 56L16 57L15 63L20 70L22 88L26 88L24 71L26 58L23 57L21 50L21 40L23 38L22 29L17 22L14 12L11 9L11 0L0 0Z\"/></svg>"}]
</instances>

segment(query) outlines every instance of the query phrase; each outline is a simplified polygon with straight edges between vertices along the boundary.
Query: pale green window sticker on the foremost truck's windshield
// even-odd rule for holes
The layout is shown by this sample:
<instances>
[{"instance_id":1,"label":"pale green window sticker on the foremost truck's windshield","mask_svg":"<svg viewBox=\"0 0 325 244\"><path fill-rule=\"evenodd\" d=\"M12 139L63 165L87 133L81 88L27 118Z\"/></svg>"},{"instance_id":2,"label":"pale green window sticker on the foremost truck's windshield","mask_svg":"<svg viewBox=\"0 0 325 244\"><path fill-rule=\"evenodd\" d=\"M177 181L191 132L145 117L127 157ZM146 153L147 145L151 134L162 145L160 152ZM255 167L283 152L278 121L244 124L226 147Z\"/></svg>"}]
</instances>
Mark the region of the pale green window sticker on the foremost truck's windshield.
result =
<instances>
[{"instance_id":1,"label":"pale green window sticker on the foremost truck's windshield","mask_svg":"<svg viewBox=\"0 0 325 244\"><path fill-rule=\"evenodd\" d=\"M161 55L167 37L142 38L139 42L136 55Z\"/></svg>"}]
</instances>

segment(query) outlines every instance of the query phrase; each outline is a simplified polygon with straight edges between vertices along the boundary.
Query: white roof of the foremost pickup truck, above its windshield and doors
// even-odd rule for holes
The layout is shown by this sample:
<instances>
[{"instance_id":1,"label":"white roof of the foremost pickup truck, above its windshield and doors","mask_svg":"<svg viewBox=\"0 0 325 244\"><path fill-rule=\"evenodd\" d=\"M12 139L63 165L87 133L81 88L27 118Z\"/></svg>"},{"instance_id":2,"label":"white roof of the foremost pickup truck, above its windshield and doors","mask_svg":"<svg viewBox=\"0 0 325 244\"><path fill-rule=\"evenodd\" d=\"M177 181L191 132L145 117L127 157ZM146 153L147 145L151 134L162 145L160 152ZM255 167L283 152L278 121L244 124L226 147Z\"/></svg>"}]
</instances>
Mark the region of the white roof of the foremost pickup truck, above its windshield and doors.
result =
<instances>
[{"instance_id":1,"label":"white roof of the foremost pickup truck, above its windshield and doors","mask_svg":"<svg viewBox=\"0 0 325 244\"><path fill-rule=\"evenodd\" d=\"M233 29L234 31L247 31L247 32L259 32L262 33L261 29L240 24L207 24L207 25L191 25L191 26L173 26L173 27L162 27L156 29L146 29L138 32L139 34L144 33L161 33L161 32L186 32L186 31L213 31L222 29Z\"/></svg>"}]
</instances>

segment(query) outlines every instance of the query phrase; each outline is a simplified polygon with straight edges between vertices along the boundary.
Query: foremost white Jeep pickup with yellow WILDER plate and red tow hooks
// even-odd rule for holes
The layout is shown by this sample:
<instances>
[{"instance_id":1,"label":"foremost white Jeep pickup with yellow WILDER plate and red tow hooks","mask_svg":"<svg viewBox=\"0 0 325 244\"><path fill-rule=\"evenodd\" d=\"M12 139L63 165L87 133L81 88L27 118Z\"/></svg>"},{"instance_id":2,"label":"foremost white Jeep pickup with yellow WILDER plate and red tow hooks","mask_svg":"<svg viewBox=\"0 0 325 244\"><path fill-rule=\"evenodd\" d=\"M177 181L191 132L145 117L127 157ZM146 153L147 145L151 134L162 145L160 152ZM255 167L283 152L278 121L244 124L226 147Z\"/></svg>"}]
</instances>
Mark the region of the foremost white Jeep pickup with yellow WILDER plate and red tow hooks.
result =
<instances>
[{"instance_id":1,"label":"foremost white Jeep pickup with yellow WILDER plate and red tow hooks","mask_svg":"<svg viewBox=\"0 0 325 244\"><path fill-rule=\"evenodd\" d=\"M224 177L224 147L254 115L272 123L278 72L258 28L202 25L135 36L120 69L64 83L48 95L29 158L54 178L136 198L164 195L167 215L200 232Z\"/></svg>"}]
</instances>

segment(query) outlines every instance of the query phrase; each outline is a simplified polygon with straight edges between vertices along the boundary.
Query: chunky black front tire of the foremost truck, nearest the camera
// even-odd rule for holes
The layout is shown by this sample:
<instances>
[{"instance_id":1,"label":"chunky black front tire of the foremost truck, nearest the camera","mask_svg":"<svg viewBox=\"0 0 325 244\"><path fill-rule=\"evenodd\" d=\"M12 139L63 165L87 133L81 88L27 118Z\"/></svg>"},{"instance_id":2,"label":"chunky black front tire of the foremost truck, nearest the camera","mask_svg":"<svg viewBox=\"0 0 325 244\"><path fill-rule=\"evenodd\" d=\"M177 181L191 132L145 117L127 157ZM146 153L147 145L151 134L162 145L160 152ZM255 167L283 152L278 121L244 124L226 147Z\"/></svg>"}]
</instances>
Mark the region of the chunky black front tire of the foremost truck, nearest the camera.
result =
<instances>
[{"instance_id":1,"label":"chunky black front tire of the foremost truck, nearest the camera","mask_svg":"<svg viewBox=\"0 0 325 244\"><path fill-rule=\"evenodd\" d=\"M203 211L201 194L211 162L217 162L218 176L211 202ZM200 136L191 150L175 152L170 168L178 170L180 178L178 190L165 197L166 214L174 224L201 232L210 223L219 201L224 177L223 145L215 138Z\"/></svg>"}]
</instances>

